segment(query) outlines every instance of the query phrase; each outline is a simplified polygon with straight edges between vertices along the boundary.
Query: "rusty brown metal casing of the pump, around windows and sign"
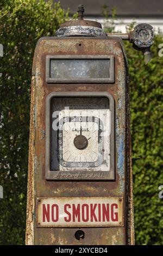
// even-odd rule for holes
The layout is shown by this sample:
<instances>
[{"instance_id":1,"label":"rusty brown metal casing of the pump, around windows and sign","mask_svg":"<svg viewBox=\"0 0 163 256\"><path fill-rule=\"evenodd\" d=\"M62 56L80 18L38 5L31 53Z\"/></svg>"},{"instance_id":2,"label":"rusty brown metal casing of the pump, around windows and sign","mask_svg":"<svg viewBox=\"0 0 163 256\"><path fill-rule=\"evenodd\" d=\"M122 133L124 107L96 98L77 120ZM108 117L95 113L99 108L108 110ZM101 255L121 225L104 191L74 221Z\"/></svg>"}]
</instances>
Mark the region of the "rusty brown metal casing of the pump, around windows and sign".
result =
<instances>
[{"instance_id":1,"label":"rusty brown metal casing of the pump, around windows and sign","mask_svg":"<svg viewBox=\"0 0 163 256\"><path fill-rule=\"evenodd\" d=\"M121 39L71 37L42 38L36 46L33 74L29 151L27 244L36 245L125 245L134 243L132 173L130 162L129 92L127 64ZM46 56L50 54L107 55L115 57L115 82L108 84L46 83ZM35 84L35 85L34 85ZM33 90L34 90L33 88ZM47 181L45 179L45 101L52 92L108 92L116 108L115 181ZM33 114L35 106L35 114ZM34 137L35 136L35 137ZM35 144L34 144L35 142ZM35 173L35 175L34 175ZM35 193L34 193L34 186ZM35 200L33 200L35 194ZM82 228L85 238L74 237L77 228L37 228L36 198L123 197L124 227ZM32 212L34 209L34 222Z\"/></svg>"}]
</instances>

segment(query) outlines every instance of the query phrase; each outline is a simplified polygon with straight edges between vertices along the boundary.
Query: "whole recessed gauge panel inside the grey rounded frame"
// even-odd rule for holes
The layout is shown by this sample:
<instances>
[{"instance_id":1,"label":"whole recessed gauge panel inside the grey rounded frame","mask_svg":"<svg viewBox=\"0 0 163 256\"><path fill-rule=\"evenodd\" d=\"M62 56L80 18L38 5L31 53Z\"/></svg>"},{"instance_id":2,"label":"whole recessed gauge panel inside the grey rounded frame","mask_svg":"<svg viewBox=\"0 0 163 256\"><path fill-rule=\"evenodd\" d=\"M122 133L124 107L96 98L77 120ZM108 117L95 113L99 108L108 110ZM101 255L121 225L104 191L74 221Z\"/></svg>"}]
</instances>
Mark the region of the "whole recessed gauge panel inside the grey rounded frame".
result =
<instances>
[{"instance_id":1,"label":"whole recessed gauge panel inside the grey rounded frame","mask_svg":"<svg viewBox=\"0 0 163 256\"><path fill-rule=\"evenodd\" d=\"M52 101L51 170L110 170L111 111L107 97Z\"/></svg>"}]
</instances>

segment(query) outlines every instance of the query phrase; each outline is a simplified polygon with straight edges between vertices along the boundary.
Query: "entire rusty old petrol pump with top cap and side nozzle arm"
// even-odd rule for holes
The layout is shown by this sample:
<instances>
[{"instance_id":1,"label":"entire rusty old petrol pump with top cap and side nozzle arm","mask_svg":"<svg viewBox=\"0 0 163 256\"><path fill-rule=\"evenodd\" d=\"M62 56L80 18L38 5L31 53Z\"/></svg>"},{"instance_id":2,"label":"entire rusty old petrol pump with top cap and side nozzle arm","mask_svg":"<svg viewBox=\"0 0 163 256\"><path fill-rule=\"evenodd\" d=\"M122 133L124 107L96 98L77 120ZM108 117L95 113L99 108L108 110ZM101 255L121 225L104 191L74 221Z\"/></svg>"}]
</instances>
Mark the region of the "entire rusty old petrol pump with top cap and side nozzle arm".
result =
<instances>
[{"instance_id":1,"label":"entire rusty old petrol pump with top cap and side nozzle arm","mask_svg":"<svg viewBox=\"0 0 163 256\"><path fill-rule=\"evenodd\" d=\"M151 58L152 27L105 34L83 19L36 45L27 245L133 245L129 85L122 40Z\"/></svg>"}]
</instances>

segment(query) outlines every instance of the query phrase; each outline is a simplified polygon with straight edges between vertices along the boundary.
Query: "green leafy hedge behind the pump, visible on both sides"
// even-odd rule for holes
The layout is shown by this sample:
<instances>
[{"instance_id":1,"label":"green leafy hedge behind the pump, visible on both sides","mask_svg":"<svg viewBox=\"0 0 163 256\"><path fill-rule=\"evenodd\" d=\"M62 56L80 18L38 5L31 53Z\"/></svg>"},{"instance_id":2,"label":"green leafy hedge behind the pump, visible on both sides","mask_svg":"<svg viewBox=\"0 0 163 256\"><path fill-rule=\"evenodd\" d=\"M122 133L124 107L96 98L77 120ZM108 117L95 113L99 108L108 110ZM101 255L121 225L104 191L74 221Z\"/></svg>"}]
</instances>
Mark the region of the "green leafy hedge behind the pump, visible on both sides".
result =
<instances>
[{"instance_id":1,"label":"green leafy hedge behind the pump, visible on both sides","mask_svg":"<svg viewBox=\"0 0 163 256\"><path fill-rule=\"evenodd\" d=\"M9 3L10 4L9 4ZM1 1L0 43L0 244L24 244L26 222L30 79L34 48L40 36L54 35L68 19L60 4L40 0ZM153 59L145 66L141 52L126 44L130 72L131 132L134 166L135 234L137 244L162 244L162 71L155 37Z\"/></svg>"}]
</instances>

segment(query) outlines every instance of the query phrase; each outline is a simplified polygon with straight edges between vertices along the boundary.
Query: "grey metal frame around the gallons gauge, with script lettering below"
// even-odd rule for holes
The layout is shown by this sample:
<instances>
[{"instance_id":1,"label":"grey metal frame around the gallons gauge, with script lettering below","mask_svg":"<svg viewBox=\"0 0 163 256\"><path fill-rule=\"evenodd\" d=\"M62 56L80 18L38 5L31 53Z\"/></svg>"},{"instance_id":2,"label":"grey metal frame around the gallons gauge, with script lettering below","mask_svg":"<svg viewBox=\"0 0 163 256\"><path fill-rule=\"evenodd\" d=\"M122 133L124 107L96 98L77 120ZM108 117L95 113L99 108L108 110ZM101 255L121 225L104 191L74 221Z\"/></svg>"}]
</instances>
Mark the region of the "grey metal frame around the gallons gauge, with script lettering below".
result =
<instances>
[{"instance_id":1,"label":"grey metal frame around the gallons gauge, with script lettering below","mask_svg":"<svg viewBox=\"0 0 163 256\"><path fill-rule=\"evenodd\" d=\"M51 100L53 97L107 97L111 115L110 170L51 170ZM46 98L46 153L45 176L47 180L115 180L115 102L106 92L53 92Z\"/></svg>"}]
</instances>

